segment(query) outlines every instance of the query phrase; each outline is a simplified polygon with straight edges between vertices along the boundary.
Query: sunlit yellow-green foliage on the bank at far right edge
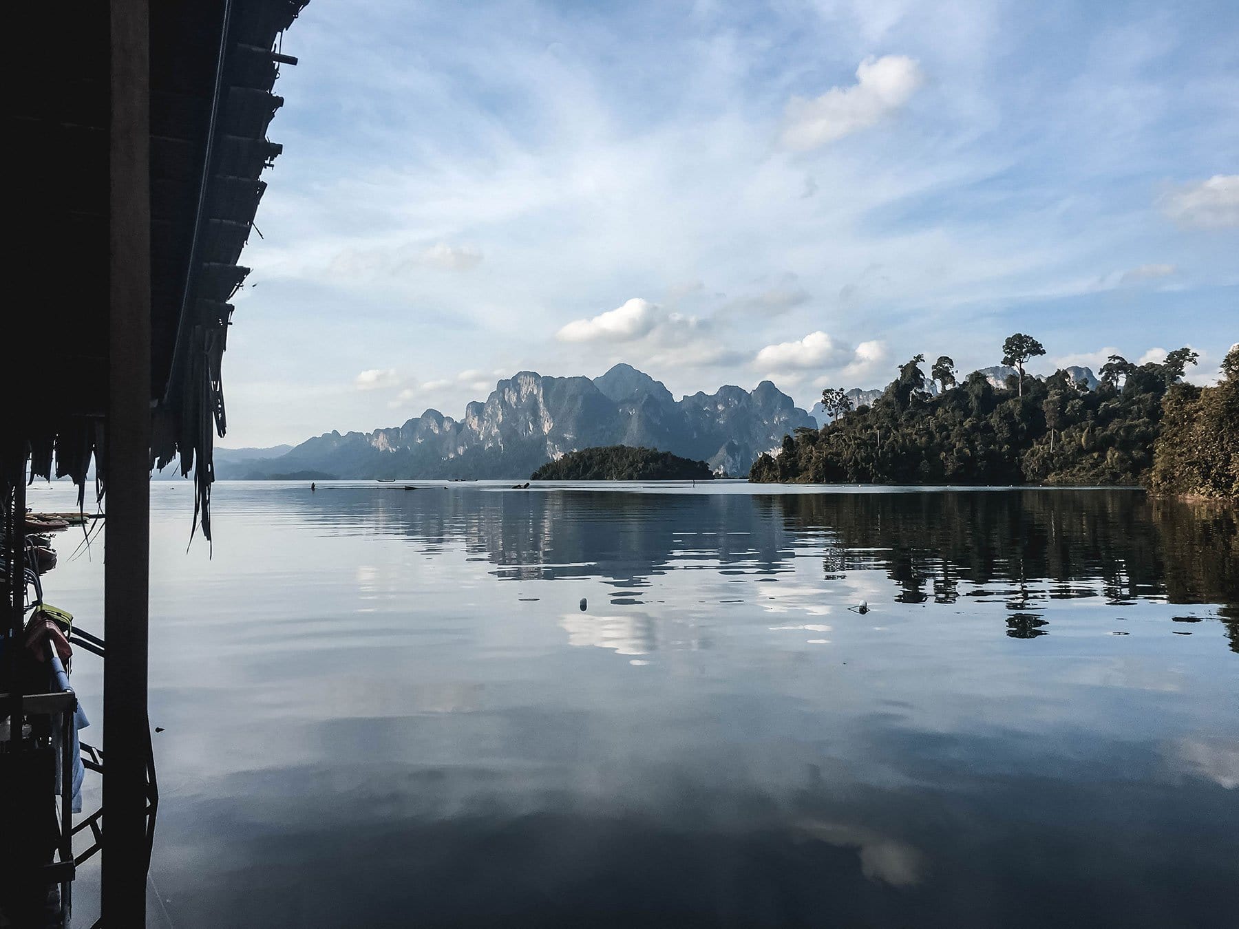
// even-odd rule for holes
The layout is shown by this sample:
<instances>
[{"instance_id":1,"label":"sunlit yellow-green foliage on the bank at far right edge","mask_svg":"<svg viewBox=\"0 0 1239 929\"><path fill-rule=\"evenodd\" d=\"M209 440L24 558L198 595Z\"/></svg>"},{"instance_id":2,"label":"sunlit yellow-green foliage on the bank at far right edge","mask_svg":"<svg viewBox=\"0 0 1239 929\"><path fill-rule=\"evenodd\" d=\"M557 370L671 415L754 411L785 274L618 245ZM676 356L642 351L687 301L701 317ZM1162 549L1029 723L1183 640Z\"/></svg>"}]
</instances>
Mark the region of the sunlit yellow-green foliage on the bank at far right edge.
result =
<instances>
[{"instance_id":1,"label":"sunlit yellow-green foliage on the bank at far right edge","mask_svg":"<svg viewBox=\"0 0 1239 929\"><path fill-rule=\"evenodd\" d=\"M1171 352L1165 365L1182 375L1176 355ZM1186 360L1194 364L1196 353ZM1222 374L1217 386L1173 384L1167 390L1149 482L1152 491L1239 499L1239 346L1227 353Z\"/></svg>"}]
</instances>

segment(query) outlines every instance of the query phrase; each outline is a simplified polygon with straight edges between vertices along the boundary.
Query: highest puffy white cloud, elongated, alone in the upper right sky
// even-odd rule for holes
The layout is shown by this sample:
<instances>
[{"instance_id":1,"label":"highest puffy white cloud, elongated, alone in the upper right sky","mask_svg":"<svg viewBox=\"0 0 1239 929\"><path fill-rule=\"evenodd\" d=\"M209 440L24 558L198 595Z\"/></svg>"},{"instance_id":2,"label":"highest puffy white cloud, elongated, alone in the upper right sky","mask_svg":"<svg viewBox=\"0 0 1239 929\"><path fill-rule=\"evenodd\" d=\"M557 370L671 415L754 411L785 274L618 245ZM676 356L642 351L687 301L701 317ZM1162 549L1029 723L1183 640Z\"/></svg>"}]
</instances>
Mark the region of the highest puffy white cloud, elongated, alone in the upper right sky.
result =
<instances>
[{"instance_id":1,"label":"highest puffy white cloud, elongated, alone in the upper right sky","mask_svg":"<svg viewBox=\"0 0 1239 929\"><path fill-rule=\"evenodd\" d=\"M903 107L924 83L921 66L903 55L866 58L856 83L833 87L812 100L793 97L787 104L782 142L808 151L877 124Z\"/></svg>"}]
</instances>

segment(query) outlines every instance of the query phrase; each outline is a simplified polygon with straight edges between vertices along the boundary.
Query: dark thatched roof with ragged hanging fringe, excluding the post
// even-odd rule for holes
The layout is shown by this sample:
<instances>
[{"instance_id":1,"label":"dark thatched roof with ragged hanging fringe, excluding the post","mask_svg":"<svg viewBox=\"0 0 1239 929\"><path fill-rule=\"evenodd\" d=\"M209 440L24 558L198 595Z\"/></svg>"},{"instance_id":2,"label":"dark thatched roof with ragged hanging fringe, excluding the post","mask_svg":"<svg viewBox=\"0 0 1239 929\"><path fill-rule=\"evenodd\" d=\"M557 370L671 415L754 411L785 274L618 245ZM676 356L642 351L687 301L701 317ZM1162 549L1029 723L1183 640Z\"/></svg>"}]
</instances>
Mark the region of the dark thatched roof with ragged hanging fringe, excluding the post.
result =
<instances>
[{"instance_id":1,"label":"dark thatched roof with ragged hanging fringe, excluding the post","mask_svg":"<svg viewBox=\"0 0 1239 929\"><path fill-rule=\"evenodd\" d=\"M209 538L214 434L223 435L221 359L239 264L280 154L266 139L280 33L306 0L171 0L150 5L152 460L191 471ZM109 7L25 4L11 26L21 85L10 177L15 268L30 296L5 338L15 429L33 472L84 487L92 456L102 493L108 388ZM16 308L16 307L15 307ZM30 323L33 323L31 328ZM12 334L11 325L5 327ZM10 417L5 416L6 421ZM10 441L11 440L11 441ZM53 466L55 458L55 466Z\"/></svg>"}]
</instances>

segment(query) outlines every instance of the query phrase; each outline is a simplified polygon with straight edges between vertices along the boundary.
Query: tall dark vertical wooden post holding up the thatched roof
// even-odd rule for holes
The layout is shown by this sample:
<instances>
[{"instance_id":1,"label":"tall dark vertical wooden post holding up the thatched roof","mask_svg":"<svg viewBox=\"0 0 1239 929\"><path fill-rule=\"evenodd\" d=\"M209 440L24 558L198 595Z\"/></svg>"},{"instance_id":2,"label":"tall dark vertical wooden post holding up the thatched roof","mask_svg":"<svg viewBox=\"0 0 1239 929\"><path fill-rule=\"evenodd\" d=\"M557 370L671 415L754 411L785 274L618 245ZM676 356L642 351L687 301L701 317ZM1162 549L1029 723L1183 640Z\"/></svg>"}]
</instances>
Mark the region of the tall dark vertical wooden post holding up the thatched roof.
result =
<instances>
[{"instance_id":1,"label":"tall dark vertical wooden post holding up the thatched roof","mask_svg":"<svg viewBox=\"0 0 1239 929\"><path fill-rule=\"evenodd\" d=\"M112 0L110 281L104 447L103 919L146 924L151 261L149 0Z\"/></svg>"}]
</instances>

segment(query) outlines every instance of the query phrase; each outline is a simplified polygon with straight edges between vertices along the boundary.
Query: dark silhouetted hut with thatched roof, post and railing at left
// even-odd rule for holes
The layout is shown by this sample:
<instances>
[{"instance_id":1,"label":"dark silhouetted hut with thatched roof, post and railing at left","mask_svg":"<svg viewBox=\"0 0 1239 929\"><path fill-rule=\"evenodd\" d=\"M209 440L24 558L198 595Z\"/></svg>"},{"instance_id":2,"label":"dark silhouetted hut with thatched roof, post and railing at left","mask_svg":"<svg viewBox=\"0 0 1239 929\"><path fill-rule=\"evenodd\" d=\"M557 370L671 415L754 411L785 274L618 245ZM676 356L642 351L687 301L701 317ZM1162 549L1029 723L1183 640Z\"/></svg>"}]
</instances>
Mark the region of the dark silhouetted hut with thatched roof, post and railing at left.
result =
<instances>
[{"instance_id":1,"label":"dark silhouetted hut with thatched roof, post and railing at left","mask_svg":"<svg viewBox=\"0 0 1239 929\"><path fill-rule=\"evenodd\" d=\"M296 61L280 53L280 37L305 2L11 10L10 268L26 296L10 295L0 323L0 717L10 723L0 735L0 903L19 887L58 884L67 909L76 865L94 851L74 862L67 814L57 814L55 855L21 834L43 829L56 803L52 778L25 763L35 746L22 723L59 713L74 697L40 702L24 692L17 670L26 478L55 469L77 482L82 500L93 458L94 489L107 494L107 645L98 649L107 752L87 767L102 769L107 830L98 815L78 829L89 826L95 847L105 846L107 925L145 925L157 799L146 720L150 471L176 461L182 474L192 472L193 528L209 539L229 300L248 273L239 259L265 188L260 175L281 150L266 139L282 103L271 90L280 67ZM24 813L30 808L42 813Z\"/></svg>"}]
</instances>

